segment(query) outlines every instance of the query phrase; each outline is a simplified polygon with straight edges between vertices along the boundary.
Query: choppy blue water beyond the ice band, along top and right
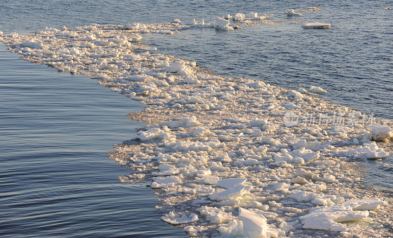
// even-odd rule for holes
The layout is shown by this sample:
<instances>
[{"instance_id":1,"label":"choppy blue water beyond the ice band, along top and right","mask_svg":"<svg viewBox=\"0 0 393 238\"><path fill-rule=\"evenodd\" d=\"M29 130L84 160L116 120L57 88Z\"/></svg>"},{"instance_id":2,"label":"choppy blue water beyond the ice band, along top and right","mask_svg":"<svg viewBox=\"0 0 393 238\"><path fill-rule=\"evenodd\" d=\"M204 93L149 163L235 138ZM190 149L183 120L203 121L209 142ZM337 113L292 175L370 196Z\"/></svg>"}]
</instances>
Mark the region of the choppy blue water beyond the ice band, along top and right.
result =
<instances>
[{"instance_id":1,"label":"choppy blue water beyond the ice band, along top and right","mask_svg":"<svg viewBox=\"0 0 393 238\"><path fill-rule=\"evenodd\" d=\"M320 12L287 17L288 8L316 6ZM228 13L274 14L282 24L223 32L194 29L175 35L145 35L160 53L195 60L214 72L261 79L286 88L320 86L324 97L377 117L393 119L392 1L77 1L4 0L0 30L33 32L45 26L163 23L174 18L211 21ZM303 22L332 24L303 29Z\"/></svg>"}]
</instances>

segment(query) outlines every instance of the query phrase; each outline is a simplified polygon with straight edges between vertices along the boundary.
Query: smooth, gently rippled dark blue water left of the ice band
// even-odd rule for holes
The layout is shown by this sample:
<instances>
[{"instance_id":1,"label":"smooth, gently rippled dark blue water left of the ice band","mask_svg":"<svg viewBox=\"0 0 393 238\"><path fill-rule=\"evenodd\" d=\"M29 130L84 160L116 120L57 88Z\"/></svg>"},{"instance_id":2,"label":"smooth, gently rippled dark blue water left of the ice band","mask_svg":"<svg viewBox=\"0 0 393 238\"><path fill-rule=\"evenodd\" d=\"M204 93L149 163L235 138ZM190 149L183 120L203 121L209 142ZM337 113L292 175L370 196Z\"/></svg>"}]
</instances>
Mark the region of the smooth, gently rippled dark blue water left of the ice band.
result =
<instances>
[{"instance_id":1,"label":"smooth, gently rippled dark blue water left of the ice band","mask_svg":"<svg viewBox=\"0 0 393 238\"><path fill-rule=\"evenodd\" d=\"M142 106L0 49L0 237L181 237L107 156ZM141 215L143 214L143 215ZM154 225L153 225L154 224Z\"/></svg>"}]
</instances>

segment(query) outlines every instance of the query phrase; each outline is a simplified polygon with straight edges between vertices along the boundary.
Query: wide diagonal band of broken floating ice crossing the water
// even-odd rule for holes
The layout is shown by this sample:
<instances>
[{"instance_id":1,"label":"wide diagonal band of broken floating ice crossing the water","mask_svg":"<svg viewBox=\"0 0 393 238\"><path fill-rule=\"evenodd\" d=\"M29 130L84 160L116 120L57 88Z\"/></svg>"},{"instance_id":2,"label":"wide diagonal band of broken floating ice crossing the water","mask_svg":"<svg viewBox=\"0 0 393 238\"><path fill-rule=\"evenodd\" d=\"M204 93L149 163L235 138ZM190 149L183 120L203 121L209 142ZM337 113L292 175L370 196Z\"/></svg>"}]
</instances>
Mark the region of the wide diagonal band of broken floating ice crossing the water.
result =
<instances>
[{"instance_id":1,"label":"wide diagonal band of broken floating ice crossing the water","mask_svg":"<svg viewBox=\"0 0 393 238\"><path fill-rule=\"evenodd\" d=\"M256 14L236 16L263 20L250 19ZM214 24L174 21L47 28L35 35L2 35L1 41L25 60L95 77L103 86L146 104L143 112L129 114L130 119L146 123L137 140L116 145L109 156L134 169L123 181L153 180L151 186L163 201L158 207L162 219L185 224L190 236L331 235L302 228L307 224L305 228L321 229L303 222L307 215L312 217L309 209L376 197L382 200L377 201L382 205L379 212L359 216L352 211L354 205L335 207L346 212L346 220L326 215L325 228L341 232L334 236L389 234L392 198L379 190L365 190L362 174L350 168L363 158L389 156L390 144L364 139L369 129L362 123L285 126L287 111L347 118L356 114L319 99L316 94L324 93L322 89L289 90L222 77L195 62L153 53L154 48L140 43L144 33L171 34L198 26L228 24L222 18ZM392 127L391 121L378 123ZM364 223L337 229L336 221L351 220Z\"/></svg>"}]
</instances>

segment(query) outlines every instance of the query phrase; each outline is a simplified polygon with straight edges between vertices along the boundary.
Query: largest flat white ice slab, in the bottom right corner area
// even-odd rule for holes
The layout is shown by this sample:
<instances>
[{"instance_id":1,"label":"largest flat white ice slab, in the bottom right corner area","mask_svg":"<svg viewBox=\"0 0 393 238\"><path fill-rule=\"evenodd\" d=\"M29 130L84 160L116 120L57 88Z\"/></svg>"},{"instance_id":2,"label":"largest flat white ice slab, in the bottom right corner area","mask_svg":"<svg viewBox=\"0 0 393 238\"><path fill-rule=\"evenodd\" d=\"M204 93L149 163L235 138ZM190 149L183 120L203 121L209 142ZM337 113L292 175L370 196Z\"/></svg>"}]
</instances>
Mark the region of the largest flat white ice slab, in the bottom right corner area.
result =
<instances>
[{"instance_id":1,"label":"largest flat white ice slab, in the bottom right corner area","mask_svg":"<svg viewBox=\"0 0 393 238\"><path fill-rule=\"evenodd\" d=\"M301 216L303 228L329 230L333 232L345 231L344 224L339 222L361 221L368 216L368 211L374 210L385 204L378 198L353 199L330 207L318 207L311 209L309 214Z\"/></svg>"}]
</instances>

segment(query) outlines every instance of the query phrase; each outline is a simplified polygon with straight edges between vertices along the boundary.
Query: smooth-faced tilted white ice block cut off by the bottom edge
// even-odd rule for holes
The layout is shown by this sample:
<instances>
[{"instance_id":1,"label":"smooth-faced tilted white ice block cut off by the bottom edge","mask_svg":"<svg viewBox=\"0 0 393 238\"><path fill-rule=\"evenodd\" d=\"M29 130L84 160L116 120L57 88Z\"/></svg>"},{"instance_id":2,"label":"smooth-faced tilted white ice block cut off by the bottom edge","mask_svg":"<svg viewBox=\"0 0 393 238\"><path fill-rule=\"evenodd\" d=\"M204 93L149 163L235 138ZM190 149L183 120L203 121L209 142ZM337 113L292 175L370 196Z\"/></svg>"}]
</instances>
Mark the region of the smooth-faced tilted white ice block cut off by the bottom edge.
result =
<instances>
[{"instance_id":1,"label":"smooth-faced tilted white ice block cut off by the bottom edge","mask_svg":"<svg viewBox=\"0 0 393 238\"><path fill-rule=\"evenodd\" d=\"M267 219L261 214L239 208L239 220L243 222L243 237L270 238L285 236L281 229L268 226Z\"/></svg>"}]
</instances>

